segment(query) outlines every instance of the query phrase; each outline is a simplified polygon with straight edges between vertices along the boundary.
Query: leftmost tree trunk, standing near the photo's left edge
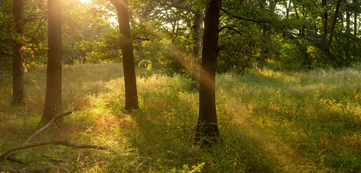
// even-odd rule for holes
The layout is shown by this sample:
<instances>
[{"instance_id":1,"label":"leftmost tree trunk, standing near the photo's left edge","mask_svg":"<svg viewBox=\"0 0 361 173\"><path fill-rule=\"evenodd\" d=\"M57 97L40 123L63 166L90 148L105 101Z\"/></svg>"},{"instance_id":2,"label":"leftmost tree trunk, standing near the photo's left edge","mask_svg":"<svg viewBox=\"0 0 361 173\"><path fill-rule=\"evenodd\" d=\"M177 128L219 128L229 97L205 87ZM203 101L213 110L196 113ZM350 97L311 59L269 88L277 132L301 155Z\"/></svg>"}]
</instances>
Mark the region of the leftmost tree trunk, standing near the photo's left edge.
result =
<instances>
[{"instance_id":1,"label":"leftmost tree trunk, standing near the photo's left edge","mask_svg":"<svg viewBox=\"0 0 361 173\"><path fill-rule=\"evenodd\" d=\"M24 35L24 1L14 0L13 15L16 33L13 41L13 103L18 104L24 102L25 84L24 84L24 68L23 55L21 50L23 46Z\"/></svg>"}]
</instances>

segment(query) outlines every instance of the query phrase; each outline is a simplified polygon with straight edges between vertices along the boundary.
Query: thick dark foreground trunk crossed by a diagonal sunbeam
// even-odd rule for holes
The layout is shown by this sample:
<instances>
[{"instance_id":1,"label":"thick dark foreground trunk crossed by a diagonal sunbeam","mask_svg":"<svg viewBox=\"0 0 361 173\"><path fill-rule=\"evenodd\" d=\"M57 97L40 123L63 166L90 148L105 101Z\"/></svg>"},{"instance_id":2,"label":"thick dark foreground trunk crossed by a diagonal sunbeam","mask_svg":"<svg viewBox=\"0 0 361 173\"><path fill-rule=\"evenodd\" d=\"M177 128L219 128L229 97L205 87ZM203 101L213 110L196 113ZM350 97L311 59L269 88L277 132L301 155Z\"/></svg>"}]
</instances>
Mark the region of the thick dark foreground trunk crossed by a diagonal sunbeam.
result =
<instances>
[{"instance_id":1,"label":"thick dark foreground trunk crossed by a diagonal sunbeam","mask_svg":"<svg viewBox=\"0 0 361 173\"><path fill-rule=\"evenodd\" d=\"M219 37L219 13L221 0L211 0L206 8L203 33L203 50L199 93L199 118L196 141L210 145L208 140L219 136L215 108L215 71ZM211 139L204 140L204 138Z\"/></svg>"}]
</instances>

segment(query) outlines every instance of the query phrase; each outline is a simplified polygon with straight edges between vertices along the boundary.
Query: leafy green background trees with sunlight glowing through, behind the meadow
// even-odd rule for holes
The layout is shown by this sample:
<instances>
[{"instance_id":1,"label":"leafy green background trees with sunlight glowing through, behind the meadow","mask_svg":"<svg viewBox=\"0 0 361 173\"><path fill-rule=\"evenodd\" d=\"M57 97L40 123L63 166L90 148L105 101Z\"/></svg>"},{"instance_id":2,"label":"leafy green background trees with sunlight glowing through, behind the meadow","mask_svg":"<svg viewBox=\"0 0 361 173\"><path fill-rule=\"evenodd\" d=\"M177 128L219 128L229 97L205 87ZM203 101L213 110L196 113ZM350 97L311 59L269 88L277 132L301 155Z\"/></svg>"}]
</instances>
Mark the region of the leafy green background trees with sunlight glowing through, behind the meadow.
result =
<instances>
[{"instance_id":1,"label":"leafy green background trees with sunlight glowing through, behind the meadow","mask_svg":"<svg viewBox=\"0 0 361 173\"><path fill-rule=\"evenodd\" d=\"M129 1L135 62L160 64L190 76L197 58L196 32L205 7L192 1ZM63 64L120 61L117 14L106 1L67 1L63 6ZM46 63L46 1L25 1L24 65ZM338 9L338 10L337 10ZM9 70L14 33L12 4L2 2L1 68ZM337 13L336 13L337 12ZM358 1L227 1L220 14L217 72L247 71L265 60L281 68L349 66L359 59ZM195 15L198 14L198 15ZM203 27L203 23L200 23ZM229 29L232 28L232 29ZM199 35L199 34L198 34ZM198 41L197 41L198 42ZM202 45L199 44L199 45ZM172 50L172 51L170 51ZM182 58L180 58L180 56ZM186 59L186 60L184 60ZM185 63L188 63L184 65ZM192 62L195 64L195 62Z\"/></svg>"}]
</instances>

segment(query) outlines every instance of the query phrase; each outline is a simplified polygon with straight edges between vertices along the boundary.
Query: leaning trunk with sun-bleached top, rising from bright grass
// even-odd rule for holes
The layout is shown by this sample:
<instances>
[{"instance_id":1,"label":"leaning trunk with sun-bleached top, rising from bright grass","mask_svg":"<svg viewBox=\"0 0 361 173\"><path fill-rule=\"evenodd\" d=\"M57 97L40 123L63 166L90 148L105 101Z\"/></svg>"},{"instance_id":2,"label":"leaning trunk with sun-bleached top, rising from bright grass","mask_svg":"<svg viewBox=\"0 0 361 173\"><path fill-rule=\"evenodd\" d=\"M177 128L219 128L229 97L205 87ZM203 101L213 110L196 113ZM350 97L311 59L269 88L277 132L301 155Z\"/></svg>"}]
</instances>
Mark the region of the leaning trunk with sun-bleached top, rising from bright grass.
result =
<instances>
[{"instance_id":1,"label":"leaning trunk with sun-bleached top, rising from bright grass","mask_svg":"<svg viewBox=\"0 0 361 173\"><path fill-rule=\"evenodd\" d=\"M121 42L123 53L124 83L125 83L125 110L139 108L136 91L136 76L133 54L133 43L130 35L129 7L127 0L109 0L117 9L119 30L125 37Z\"/></svg>"}]
</instances>

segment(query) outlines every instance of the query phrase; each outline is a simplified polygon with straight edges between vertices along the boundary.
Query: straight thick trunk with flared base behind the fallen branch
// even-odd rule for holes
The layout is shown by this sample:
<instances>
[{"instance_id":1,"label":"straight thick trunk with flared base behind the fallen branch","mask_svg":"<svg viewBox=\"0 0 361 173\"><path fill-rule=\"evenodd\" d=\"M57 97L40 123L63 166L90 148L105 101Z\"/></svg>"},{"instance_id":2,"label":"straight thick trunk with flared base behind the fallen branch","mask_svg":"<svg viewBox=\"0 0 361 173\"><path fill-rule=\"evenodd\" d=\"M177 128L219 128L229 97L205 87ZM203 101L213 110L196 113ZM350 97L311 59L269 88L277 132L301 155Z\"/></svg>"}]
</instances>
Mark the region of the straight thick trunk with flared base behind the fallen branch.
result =
<instances>
[{"instance_id":1,"label":"straight thick trunk with flared base behind the fallen branch","mask_svg":"<svg viewBox=\"0 0 361 173\"><path fill-rule=\"evenodd\" d=\"M48 64L42 123L62 110L62 9L60 0L48 0Z\"/></svg>"}]
</instances>

